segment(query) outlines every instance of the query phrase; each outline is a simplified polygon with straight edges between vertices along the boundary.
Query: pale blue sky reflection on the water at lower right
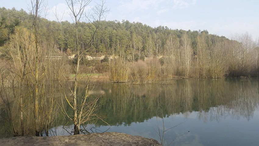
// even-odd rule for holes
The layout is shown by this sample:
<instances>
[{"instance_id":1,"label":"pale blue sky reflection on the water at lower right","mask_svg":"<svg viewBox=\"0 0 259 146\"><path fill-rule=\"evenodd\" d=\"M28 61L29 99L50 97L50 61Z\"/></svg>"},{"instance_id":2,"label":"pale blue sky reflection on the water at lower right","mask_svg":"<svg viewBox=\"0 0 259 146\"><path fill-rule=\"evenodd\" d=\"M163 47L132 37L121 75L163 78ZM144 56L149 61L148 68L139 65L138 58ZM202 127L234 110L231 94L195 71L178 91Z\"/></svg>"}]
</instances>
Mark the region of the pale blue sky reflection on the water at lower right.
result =
<instances>
[{"instance_id":1,"label":"pale blue sky reflection on the water at lower right","mask_svg":"<svg viewBox=\"0 0 259 146\"><path fill-rule=\"evenodd\" d=\"M209 113L209 112L208 112ZM182 124L166 131L165 145L258 145L259 143L259 110L254 111L254 117L249 121L247 118L239 117L237 120L231 116L225 116L220 120L204 120L200 118L200 114L208 114L204 112L187 112L183 114L174 114L164 118L165 130ZM186 114L188 116L186 117ZM209 116L209 115L207 115ZM98 130L108 132L121 132L136 136L153 138L160 141L156 131L158 127L162 131L162 119L153 117L144 122L133 122L130 126L100 126ZM69 129L69 127L67 127ZM73 126L70 127L70 131ZM190 131L190 132L188 132ZM57 129L57 133L63 135L62 127ZM66 133L66 132L65 132ZM177 135L182 135L177 137ZM177 137L177 138L176 138Z\"/></svg>"}]
</instances>

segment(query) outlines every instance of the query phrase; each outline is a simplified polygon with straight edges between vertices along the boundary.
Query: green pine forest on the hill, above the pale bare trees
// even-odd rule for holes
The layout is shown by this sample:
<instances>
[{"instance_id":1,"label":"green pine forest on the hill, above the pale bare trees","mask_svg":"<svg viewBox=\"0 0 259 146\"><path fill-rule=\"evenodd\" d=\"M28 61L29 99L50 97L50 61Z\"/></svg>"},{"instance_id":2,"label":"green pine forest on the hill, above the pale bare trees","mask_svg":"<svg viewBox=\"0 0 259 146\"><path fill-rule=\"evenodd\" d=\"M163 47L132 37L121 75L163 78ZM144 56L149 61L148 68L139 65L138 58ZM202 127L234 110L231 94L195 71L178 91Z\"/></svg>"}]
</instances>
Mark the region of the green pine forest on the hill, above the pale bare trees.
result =
<instances>
[{"instance_id":1,"label":"green pine forest on the hill, above the pale bare trees","mask_svg":"<svg viewBox=\"0 0 259 146\"><path fill-rule=\"evenodd\" d=\"M52 13L52 12L51 12ZM7 24L13 24L15 22L19 22L19 27L25 27L28 30L32 29L31 16L23 9L16 10L13 9L5 9L0 8L1 19L5 20ZM68 21L56 22L49 21L47 19L40 19L40 33L42 39L47 37L50 39L50 42L56 42L56 48L60 51L66 52L67 49L71 49L73 53L75 48L75 33L74 33L74 24ZM89 27L91 24L87 24L85 22L81 22L79 25L80 32L80 40L87 44L87 41L90 39ZM150 42L154 43L155 39L159 39L158 45L158 54L162 55L165 50L164 46L166 40L170 35L175 35L178 38L184 33L187 33L191 39L192 47L197 48L197 36L201 33L205 33L208 35L208 31L184 31L184 30L171 30L168 27L159 26L159 27L150 27L146 24L142 24L140 22L129 22L128 20L120 21L102 21L99 27L100 31L94 36L93 41L90 43L87 48L89 48L89 53L108 53L112 54L113 51L116 52L116 46L125 46L126 48L130 48L132 42L141 43L141 54L142 57L152 57L150 53L148 53L148 47ZM0 38L0 46L4 46L4 44L8 43L9 36L15 33L14 28L12 29L1 29L1 38ZM208 35L211 37L217 37L215 35ZM225 38L225 37L221 37ZM154 52L156 52L156 49ZM154 56L156 54L153 54Z\"/></svg>"}]
</instances>

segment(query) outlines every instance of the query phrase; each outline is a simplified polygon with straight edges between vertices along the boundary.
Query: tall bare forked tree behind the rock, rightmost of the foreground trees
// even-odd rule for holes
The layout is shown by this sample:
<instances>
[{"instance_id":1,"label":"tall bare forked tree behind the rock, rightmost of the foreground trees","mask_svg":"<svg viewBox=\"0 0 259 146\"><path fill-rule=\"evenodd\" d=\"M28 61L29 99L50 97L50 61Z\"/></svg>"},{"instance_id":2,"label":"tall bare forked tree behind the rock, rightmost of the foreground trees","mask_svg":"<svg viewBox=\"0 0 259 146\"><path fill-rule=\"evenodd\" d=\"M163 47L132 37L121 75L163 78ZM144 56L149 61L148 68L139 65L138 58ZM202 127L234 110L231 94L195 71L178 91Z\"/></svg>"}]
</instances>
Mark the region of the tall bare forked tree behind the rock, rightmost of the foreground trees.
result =
<instances>
[{"instance_id":1,"label":"tall bare forked tree behind the rock, rightmost of the foreground trees","mask_svg":"<svg viewBox=\"0 0 259 146\"><path fill-rule=\"evenodd\" d=\"M80 60L83 59L84 52L87 51L84 48L84 44L80 45L79 40L79 34L78 34L78 26L80 23L80 20L83 16L85 16L86 21L90 22L95 29L93 30L92 36L90 40L88 41L88 44L92 41L94 38L95 33L99 29L99 23L102 19L105 17L105 13L108 12L107 7L105 6L105 1L101 1L101 4L96 4L96 6L92 9L92 13L89 13L85 15L85 9L90 4L91 0L66 0L66 3L71 10L71 16L73 17L73 21L75 24L75 32L76 32L76 66L75 66L75 78L74 78L74 86L73 90L70 89L73 98L72 98L72 104L68 100L68 98L65 95L66 101L69 104L69 106L73 109L73 118L70 118L74 122L74 135L80 134L80 124L83 124L87 120L89 120L90 115L93 115L94 109L96 107L96 101L93 104L87 105L87 97L88 91L89 91L89 82L88 80L84 86L85 88L85 96L81 100L80 104L77 104L78 95L77 95L77 89L78 89L78 82L79 82L79 71L80 71ZM87 45L87 44L86 44ZM60 83L61 85L61 83ZM86 108L89 110L86 111Z\"/></svg>"}]
</instances>

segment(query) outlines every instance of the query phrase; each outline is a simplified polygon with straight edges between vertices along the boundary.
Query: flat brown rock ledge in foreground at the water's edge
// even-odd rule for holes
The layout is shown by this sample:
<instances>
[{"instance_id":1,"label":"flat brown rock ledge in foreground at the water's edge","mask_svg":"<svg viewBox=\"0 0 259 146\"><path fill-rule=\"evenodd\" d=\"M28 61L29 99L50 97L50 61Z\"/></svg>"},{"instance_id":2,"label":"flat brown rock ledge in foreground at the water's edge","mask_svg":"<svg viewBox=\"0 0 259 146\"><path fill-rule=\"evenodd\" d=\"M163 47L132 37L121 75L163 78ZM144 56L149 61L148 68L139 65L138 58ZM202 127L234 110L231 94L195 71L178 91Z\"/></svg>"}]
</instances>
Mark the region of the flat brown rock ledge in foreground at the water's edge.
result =
<instances>
[{"instance_id":1,"label":"flat brown rock ledge in foreground at the water's edge","mask_svg":"<svg viewBox=\"0 0 259 146\"><path fill-rule=\"evenodd\" d=\"M158 141L140 136L132 136L125 133L105 132L88 135L55 136L55 137L13 137L0 139L0 145L4 146L101 146L101 145L129 145L129 146L160 146Z\"/></svg>"}]
</instances>

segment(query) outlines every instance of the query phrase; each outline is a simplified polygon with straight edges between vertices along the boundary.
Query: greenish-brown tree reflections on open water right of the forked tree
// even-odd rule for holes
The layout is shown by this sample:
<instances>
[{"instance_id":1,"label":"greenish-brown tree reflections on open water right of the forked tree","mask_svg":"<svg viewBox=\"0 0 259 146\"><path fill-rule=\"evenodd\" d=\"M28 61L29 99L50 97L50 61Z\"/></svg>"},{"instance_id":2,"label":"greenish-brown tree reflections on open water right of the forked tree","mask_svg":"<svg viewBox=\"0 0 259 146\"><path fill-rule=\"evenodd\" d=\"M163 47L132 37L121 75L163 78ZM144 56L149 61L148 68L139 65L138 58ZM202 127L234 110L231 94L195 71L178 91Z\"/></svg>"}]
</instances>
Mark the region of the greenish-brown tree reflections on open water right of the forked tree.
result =
<instances>
[{"instance_id":1,"label":"greenish-brown tree reflections on open water right of the forked tree","mask_svg":"<svg viewBox=\"0 0 259 146\"><path fill-rule=\"evenodd\" d=\"M161 117L159 113L163 117L185 113L188 117L193 111L199 111L198 118L204 121L225 117L249 120L259 103L256 80L190 79L177 80L172 85L113 84L102 89L105 95L99 112L106 115L104 120L110 125L144 122L153 116Z\"/></svg>"}]
</instances>

